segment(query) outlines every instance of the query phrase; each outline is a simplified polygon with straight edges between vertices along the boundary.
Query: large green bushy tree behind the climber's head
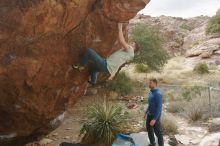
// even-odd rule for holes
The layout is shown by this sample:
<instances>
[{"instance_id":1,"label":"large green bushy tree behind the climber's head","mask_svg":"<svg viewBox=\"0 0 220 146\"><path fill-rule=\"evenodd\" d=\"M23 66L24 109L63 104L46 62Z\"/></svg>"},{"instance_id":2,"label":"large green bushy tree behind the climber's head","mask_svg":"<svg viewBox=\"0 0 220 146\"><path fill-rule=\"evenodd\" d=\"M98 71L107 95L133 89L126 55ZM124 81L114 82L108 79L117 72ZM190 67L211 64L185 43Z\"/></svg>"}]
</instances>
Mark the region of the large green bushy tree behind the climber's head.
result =
<instances>
[{"instance_id":1,"label":"large green bushy tree behind the climber's head","mask_svg":"<svg viewBox=\"0 0 220 146\"><path fill-rule=\"evenodd\" d=\"M158 27L136 24L131 31L130 40L135 41L139 47L139 53L134 58L135 63L146 64L156 71L167 63L169 56L162 47L163 39Z\"/></svg>"}]
</instances>

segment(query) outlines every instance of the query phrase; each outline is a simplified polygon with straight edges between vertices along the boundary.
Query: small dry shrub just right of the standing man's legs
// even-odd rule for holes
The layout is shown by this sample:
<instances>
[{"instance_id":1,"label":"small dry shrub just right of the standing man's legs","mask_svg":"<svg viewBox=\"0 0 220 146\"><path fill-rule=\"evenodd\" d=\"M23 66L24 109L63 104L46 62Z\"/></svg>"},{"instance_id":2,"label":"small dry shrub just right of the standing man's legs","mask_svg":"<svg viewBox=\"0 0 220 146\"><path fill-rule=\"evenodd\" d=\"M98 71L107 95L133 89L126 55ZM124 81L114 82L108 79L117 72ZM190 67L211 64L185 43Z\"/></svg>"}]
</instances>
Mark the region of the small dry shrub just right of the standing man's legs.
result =
<instances>
[{"instance_id":1,"label":"small dry shrub just right of the standing man's legs","mask_svg":"<svg viewBox=\"0 0 220 146\"><path fill-rule=\"evenodd\" d=\"M177 123L172 117L168 115L162 116L161 123L165 135L174 135L178 133Z\"/></svg>"}]
</instances>

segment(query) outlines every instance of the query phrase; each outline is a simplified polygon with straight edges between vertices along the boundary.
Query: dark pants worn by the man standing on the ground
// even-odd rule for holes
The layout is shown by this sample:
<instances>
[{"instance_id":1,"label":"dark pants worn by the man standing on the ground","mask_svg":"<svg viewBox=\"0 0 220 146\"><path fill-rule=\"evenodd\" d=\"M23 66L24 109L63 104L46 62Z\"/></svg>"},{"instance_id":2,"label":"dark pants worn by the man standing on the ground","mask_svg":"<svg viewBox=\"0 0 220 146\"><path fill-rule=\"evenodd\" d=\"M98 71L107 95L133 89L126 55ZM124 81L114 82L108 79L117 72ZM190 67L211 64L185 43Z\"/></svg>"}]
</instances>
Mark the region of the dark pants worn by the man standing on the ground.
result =
<instances>
[{"instance_id":1,"label":"dark pants worn by the man standing on the ground","mask_svg":"<svg viewBox=\"0 0 220 146\"><path fill-rule=\"evenodd\" d=\"M156 121L154 126L150 125L150 121L153 119L153 116L147 115L147 121L146 121L146 127L147 127L147 132L148 132L148 137L150 140L150 143L152 145L156 145L155 144L155 137L154 137L154 133L157 136L158 139L158 145L159 146L163 146L164 145L164 141L163 141L163 132L162 132L162 128L161 128L161 123L160 123L160 118Z\"/></svg>"}]
</instances>

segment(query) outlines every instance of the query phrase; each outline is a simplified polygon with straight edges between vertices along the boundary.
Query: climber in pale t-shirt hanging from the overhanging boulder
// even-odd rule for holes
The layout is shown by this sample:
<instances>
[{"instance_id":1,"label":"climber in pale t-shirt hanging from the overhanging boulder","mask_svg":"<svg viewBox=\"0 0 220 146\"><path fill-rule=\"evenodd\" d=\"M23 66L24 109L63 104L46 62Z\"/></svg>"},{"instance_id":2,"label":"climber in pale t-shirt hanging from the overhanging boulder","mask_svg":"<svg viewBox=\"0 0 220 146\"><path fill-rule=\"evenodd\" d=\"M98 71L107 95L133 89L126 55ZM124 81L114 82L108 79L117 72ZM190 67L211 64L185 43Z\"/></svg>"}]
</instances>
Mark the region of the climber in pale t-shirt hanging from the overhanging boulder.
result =
<instances>
[{"instance_id":1,"label":"climber in pale t-shirt hanging from the overhanging boulder","mask_svg":"<svg viewBox=\"0 0 220 146\"><path fill-rule=\"evenodd\" d=\"M132 42L128 44L125 41L123 35L123 24L118 23L119 29L119 42L122 45L122 49L114 52L108 58L103 58L97 54L93 49L87 49L83 56L80 58L79 65L73 65L73 69L82 71L85 69L89 61L92 62L90 68L91 80L88 81L90 84L95 85L97 80L97 73L104 72L110 74L108 80L112 80L115 74L118 72L119 68L131 61L134 58L134 53L137 51L137 44Z\"/></svg>"}]
</instances>

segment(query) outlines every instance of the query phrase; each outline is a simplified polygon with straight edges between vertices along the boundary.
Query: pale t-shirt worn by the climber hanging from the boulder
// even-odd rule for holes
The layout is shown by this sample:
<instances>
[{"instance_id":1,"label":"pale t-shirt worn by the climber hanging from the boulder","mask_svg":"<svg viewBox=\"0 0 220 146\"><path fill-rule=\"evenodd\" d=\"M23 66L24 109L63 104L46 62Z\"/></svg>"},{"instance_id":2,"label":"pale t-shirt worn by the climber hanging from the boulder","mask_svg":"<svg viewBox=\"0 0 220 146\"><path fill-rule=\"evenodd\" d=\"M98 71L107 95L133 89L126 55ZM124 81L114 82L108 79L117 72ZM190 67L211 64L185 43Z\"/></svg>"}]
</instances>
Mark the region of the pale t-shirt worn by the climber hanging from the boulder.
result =
<instances>
[{"instance_id":1,"label":"pale t-shirt worn by the climber hanging from the boulder","mask_svg":"<svg viewBox=\"0 0 220 146\"><path fill-rule=\"evenodd\" d=\"M120 49L107 58L107 68L112 76L115 76L118 69L126 62L134 58L134 49Z\"/></svg>"}]
</instances>

